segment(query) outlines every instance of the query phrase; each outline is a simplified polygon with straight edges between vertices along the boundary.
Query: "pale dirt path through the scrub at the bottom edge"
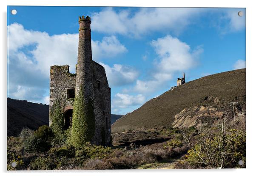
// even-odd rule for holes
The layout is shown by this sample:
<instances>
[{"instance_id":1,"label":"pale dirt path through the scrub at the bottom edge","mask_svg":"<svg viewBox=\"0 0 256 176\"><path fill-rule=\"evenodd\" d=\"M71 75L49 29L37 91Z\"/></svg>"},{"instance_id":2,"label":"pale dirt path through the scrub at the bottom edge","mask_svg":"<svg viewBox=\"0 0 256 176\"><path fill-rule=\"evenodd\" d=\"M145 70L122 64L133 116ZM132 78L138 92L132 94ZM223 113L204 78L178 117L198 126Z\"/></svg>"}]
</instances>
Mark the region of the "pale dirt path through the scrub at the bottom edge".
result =
<instances>
[{"instance_id":1,"label":"pale dirt path through the scrub at the bottom edge","mask_svg":"<svg viewBox=\"0 0 256 176\"><path fill-rule=\"evenodd\" d=\"M174 169L176 162L180 161L182 155L177 158L163 159L159 162L140 165L137 169Z\"/></svg>"}]
</instances>

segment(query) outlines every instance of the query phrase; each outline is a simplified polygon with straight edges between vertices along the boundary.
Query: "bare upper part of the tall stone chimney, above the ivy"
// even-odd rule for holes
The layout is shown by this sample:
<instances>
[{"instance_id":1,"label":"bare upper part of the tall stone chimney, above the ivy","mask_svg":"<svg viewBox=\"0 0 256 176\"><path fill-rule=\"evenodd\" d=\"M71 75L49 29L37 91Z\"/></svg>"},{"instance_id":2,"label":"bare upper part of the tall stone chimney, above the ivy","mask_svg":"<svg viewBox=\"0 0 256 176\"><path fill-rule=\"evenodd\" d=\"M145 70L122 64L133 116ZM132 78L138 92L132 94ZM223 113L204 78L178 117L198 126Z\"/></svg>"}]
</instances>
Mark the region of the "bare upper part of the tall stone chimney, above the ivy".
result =
<instances>
[{"instance_id":1,"label":"bare upper part of the tall stone chimney, above the ivy","mask_svg":"<svg viewBox=\"0 0 256 176\"><path fill-rule=\"evenodd\" d=\"M88 99L93 98L91 64L91 18L89 16L86 16L86 18L85 16L79 16L79 41L75 95L77 96L80 91L83 91L85 95L85 102L88 102Z\"/></svg>"}]
</instances>

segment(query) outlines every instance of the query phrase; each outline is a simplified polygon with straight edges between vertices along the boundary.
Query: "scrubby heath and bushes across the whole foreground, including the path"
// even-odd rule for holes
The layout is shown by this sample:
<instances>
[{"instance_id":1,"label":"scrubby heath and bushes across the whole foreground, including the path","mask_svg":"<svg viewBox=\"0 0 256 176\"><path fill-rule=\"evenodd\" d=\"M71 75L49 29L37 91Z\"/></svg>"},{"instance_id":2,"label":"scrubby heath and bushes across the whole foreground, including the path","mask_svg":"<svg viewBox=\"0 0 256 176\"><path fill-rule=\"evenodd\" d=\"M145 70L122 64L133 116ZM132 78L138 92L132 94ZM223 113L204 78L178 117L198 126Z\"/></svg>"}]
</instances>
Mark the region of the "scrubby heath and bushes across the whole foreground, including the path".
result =
<instances>
[{"instance_id":1,"label":"scrubby heath and bushes across the whole foreground, including the path","mask_svg":"<svg viewBox=\"0 0 256 176\"><path fill-rule=\"evenodd\" d=\"M7 139L7 170L245 168L245 130L225 121L216 118L210 128L128 130L113 134L111 147L72 146L48 126L23 129Z\"/></svg>"}]
</instances>

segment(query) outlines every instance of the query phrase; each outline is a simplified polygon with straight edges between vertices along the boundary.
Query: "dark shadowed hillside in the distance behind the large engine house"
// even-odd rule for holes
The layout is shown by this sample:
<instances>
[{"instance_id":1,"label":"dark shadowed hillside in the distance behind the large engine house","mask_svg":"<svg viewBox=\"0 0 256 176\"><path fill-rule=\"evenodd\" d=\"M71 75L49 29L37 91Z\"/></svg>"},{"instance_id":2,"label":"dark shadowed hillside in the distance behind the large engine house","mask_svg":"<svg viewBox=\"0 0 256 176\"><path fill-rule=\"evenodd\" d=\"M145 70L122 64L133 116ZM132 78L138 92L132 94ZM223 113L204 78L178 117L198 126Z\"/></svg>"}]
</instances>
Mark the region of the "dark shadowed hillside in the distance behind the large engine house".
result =
<instances>
[{"instance_id":1,"label":"dark shadowed hillside in the distance behind the large engine house","mask_svg":"<svg viewBox=\"0 0 256 176\"><path fill-rule=\"evenodd\" d=\"M111 114L111 124L122 115ZM17 136L24 127L49 124L49 105L7 98L7 136Z\"/></svg>"}]
</instances>

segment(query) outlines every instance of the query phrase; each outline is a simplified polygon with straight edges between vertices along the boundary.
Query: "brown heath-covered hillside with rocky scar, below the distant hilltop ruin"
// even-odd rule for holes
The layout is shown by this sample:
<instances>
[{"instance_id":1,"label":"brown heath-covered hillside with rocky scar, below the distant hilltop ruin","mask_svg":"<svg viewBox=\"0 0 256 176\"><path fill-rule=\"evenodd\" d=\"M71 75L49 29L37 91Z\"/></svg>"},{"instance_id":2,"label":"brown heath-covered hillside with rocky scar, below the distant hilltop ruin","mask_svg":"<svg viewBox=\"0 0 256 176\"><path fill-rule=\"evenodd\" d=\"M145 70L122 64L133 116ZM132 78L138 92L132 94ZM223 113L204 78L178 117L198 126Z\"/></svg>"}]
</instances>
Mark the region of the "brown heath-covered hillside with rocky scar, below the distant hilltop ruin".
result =
<instances>
[{"instance_id":1,"label":"brown heath-covered hillside with rocky scar, below the distant hilltop ruin","mask_svg":"<svg viewBox=\"0 0 256 176\"><path fill-rule=\"evenodd\" d=\"M122 116L112 125L112 129L120 131L141 127L175 126L183 125L186 120L185 126L189 126L189 123L198 123L197 117L205 114L207 116L205 110L212 110L212 106L217 104L229 106L230 102L239 102L236 113L245 112L245 69L212 74L166 91L132 113ZM197 116L193 115L195 113ZM210 115L209 113L208 116ZM188 118L192 120L188 121Z\"/></svg>"}]
</instances>

